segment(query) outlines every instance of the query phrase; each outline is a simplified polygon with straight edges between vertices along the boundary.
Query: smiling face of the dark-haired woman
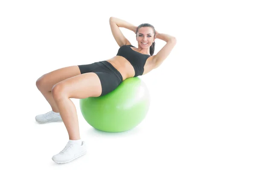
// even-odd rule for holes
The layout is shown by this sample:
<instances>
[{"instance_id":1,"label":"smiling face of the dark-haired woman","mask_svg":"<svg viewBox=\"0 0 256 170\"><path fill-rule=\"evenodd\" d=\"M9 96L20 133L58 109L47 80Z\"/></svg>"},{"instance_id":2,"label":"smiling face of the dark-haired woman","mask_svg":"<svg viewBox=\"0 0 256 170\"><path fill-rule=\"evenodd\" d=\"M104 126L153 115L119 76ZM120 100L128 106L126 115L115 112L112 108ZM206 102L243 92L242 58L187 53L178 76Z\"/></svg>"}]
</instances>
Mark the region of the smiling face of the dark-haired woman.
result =
<instances>
[{"instance_id":1,"label":"smiling face of the dark-haired woman","mask_svg":"<svg viewBox=\"0 0 256 170\"><path fill-rule=\"evenodd\" d=\"M141 48L149 48L155 40L151 27L141 27L137 32L136 40Z\"/></svg>"}]
</instances>

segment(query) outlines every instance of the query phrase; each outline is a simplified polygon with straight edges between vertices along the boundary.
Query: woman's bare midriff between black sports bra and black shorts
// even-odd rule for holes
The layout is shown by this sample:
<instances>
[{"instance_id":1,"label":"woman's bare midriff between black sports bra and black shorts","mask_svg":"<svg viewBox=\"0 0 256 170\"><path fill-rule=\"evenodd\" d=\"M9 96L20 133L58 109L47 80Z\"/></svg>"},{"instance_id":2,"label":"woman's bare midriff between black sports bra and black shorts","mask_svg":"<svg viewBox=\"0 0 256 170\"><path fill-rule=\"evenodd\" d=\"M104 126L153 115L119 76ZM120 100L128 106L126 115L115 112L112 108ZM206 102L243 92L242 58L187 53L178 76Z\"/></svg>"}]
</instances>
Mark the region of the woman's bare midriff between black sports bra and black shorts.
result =
<instances>
[{"instance_id":1,"label":"woman's bare midriff between black sports bra and black shorts","mask_svg":"<svg viewBox=\"0 0 256 170\"><path fill-rule=\"evenodd\" d=\"M106 61L110 62L116 70L122 75L123 81L130 77L134 77L135 71L131 63L122 56L115 56Z\"/></svg>"}]
</instances>

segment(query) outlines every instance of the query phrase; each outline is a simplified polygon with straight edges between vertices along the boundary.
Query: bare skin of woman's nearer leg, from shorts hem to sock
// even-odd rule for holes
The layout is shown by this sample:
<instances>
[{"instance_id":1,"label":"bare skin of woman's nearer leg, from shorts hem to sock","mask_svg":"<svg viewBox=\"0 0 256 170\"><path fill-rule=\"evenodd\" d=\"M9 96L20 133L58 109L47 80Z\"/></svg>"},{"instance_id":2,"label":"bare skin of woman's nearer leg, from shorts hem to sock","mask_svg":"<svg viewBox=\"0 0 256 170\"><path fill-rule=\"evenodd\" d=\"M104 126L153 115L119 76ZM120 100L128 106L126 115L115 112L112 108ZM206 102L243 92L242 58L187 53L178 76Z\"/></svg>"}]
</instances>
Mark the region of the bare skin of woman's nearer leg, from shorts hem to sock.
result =
<instances>
[{"instance_id":1,"label":"bare skin of woman's nearer leg, from shorts hem to sock","mask_svg":"<svg viewBox=\"0 0 256 170\"><path fill-rule=\"evenodd\" d=\"M55 84L51 91L67 128L69 139L80 139L76 107L70 98L84 99L90 96L100 96L102 86L99 77L95 73L77 75Z\"/></svg>"}]
</instances>

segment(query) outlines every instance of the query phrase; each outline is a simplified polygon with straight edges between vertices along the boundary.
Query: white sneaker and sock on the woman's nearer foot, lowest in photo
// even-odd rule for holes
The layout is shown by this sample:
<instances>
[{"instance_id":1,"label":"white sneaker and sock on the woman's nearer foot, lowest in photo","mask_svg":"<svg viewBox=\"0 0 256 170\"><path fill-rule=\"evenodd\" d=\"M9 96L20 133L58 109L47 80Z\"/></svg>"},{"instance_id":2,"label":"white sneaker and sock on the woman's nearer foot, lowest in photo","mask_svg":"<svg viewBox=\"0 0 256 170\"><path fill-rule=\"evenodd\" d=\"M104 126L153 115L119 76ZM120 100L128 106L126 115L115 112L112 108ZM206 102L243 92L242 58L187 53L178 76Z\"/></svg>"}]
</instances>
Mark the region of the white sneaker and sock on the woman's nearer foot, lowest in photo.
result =
<instances>
[{"instance_id":1,"label":"white sneaker and sock on the woman's nearer foot, lowest in photo","mask_svg":"<svg viewBox=\"0 0 256 170\"><path fill-rule=\"evenodd\" d=\"M86 153L86 146L84 141L82 144L70 144L67 143L66 147L57 155L52 156L52 160L58 164L67 163L73 161Z\"/></svg>"}]
</instances>

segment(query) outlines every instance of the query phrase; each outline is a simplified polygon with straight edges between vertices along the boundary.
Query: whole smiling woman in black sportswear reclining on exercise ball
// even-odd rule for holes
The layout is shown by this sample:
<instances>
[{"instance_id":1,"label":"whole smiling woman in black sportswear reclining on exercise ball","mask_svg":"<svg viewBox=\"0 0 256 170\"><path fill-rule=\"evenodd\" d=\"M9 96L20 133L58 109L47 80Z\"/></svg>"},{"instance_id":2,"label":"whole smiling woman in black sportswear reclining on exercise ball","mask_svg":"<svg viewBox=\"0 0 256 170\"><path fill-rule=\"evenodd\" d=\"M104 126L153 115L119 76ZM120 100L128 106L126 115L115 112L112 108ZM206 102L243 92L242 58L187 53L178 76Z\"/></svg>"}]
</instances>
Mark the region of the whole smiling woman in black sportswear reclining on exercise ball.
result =
<instances>
[{"instance_id":1,"label":"whole smiling woman in black sportswear reclining on exercise ball","mask_svg":"<svg viewBox=\"0 0 256 170\"><path fill-rule=\"evenodd\" d=\"M133 26L124 20L110 17L111 31L120 46L115 57L87 65L74 65L44 74L36 81L38 90L51 105L52 111L35 117L37 122L63 121L69 135L66 147L52 160L66 163L86 153L79 134L76 107L70 98L98 97L113 91L123 80L147 74L157 68L176 44L175 37L160 34L150 24ZM138 48L124 37L119 27L134 31ZM154 54L155 39L166 45Z\"/></svg>"}]
</instances>

